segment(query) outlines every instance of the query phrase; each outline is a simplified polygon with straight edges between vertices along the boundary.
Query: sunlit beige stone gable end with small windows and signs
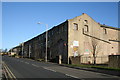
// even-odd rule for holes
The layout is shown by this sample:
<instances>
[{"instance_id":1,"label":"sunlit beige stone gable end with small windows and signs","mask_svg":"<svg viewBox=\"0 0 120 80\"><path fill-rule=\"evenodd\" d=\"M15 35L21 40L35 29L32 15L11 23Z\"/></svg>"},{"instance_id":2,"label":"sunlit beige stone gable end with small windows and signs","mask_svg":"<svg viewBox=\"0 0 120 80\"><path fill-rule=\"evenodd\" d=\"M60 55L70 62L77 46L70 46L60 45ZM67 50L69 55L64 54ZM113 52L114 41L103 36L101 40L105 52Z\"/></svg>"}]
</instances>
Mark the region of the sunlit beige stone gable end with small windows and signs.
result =
<instances>
[{"instance_id":1,"label":"sunlit beige stone gable end with small windows and signs","mask_svg":"<svg viewBox=\"0 0 120 80\"><path fill-rule=\"evenodd\" d=\"M119 28L101 25L85 13L68 23L69 56L81 56L81 63L94 63L95 57L101 64L108 62L108 55L120 54Z\"/></svg>"}]
</instances>

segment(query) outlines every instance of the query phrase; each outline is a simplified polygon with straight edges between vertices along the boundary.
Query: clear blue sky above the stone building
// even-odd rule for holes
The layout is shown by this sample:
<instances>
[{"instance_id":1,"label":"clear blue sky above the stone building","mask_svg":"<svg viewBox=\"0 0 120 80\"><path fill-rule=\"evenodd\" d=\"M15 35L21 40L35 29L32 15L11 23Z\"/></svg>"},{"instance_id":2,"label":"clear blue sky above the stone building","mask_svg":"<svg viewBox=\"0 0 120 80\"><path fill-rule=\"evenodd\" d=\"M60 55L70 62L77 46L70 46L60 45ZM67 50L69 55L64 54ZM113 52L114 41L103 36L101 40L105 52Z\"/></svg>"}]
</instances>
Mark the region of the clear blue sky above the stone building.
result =
<instances>
[{"instance_id":1,"label":"clear blue sky above the stone building","mask_svg":"<svg viewBox=\"0 0 120 80\"><path fill-rule=\"evenodd\" d=\"M118 27L117 2L3 2L2 47L10 49L76 16ZM43 24L37 24L41 22Z\"/></svg>"}]
</instances>

